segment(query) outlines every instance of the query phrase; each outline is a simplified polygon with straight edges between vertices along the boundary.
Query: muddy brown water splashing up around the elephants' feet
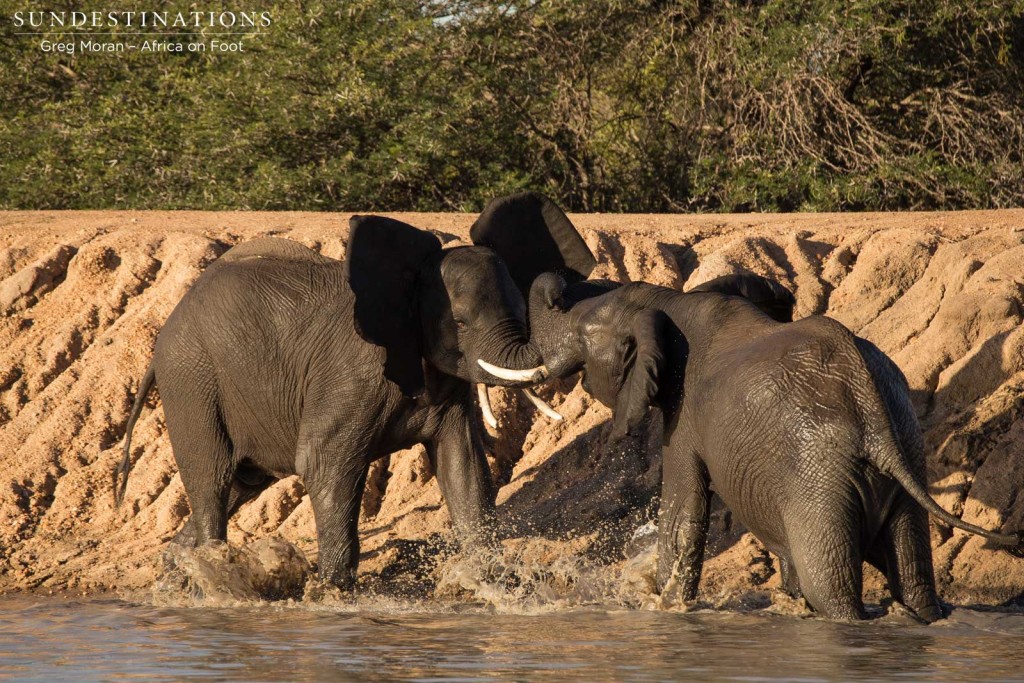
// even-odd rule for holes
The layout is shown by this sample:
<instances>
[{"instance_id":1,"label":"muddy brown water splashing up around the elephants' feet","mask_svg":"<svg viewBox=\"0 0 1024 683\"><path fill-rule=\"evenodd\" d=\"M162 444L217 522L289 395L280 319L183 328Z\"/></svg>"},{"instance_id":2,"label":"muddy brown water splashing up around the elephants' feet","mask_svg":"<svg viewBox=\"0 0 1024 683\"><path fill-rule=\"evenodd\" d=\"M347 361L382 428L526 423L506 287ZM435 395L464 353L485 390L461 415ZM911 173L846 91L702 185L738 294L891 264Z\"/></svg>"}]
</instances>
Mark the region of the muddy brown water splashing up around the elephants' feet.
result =
<instances>
[{"instance_id":1,"label":"muddy brown water splashing up around the elephants' feet","mask_svg":"<svg viewBox=\"0 0 1024 683\"><path fill-rule=\"evenodd\" d=\"M693 602L658 595L654 524L641 525L620 547L618 558L609 558L594 553L585 540L524 537L457 551L450 539L438 537L402 553L393 575L365 575L354 592L344 592L322 582L302 551L281 538L242 547L171 544L153 601L219 607L284 598L283 604L303 609L395 613L539 614L585 606L809 613L802 600L774 595L777 591L730 590Z\"/></svg>"}]
</instances>

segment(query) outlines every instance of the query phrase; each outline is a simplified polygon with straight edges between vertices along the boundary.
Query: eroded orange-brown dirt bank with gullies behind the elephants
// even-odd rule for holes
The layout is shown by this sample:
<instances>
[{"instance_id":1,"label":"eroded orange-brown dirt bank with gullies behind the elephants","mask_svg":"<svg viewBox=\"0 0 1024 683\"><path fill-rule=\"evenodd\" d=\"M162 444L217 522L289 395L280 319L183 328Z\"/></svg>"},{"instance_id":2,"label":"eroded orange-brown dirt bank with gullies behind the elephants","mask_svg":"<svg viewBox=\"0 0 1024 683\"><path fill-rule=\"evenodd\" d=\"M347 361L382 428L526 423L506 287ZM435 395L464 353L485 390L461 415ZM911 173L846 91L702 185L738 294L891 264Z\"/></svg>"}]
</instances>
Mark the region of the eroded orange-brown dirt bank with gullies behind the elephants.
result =
<instances>
[{"instance_id":1,"label":"eroded orange-brown dirt bank with gullies behind the elephants","mask_svg":"<svg viewBox=\"0 0 1024 683\"><path fill-rule=\"evenodd\" d=\"M442 241L473 216L402 214ZM135 428L127 504L112 471L163 321L231 245L276 234L340 257L347 215L31 212L0 214L0 589L145 588L188 513L155 392ZM572 216L596 276L688 289L745 268L797 293L798 314L827 313L906 373L926 428L931 489L956 515L1024 527L1024 211L785 216ZM552 423L492 390L493 454L510 546L554 562L620 562L650 518L656 449L605 447L609 412L575 380L543 388ZM360 521L365 586L432 590L446 512L425 457L372 471ZM312 512L286 479L231 520L232 544L280 535L315 558ZM529 538L531 541L522 539ZM519 540L516 540L519 539ZM537 539L541 539L540 541ZM933 525L944 598L1024 596L1024 560ZM703 597L742 600L777 574L716 513ZM876 594L882 583L868 578Z\"/></svg>"}]
</instances>

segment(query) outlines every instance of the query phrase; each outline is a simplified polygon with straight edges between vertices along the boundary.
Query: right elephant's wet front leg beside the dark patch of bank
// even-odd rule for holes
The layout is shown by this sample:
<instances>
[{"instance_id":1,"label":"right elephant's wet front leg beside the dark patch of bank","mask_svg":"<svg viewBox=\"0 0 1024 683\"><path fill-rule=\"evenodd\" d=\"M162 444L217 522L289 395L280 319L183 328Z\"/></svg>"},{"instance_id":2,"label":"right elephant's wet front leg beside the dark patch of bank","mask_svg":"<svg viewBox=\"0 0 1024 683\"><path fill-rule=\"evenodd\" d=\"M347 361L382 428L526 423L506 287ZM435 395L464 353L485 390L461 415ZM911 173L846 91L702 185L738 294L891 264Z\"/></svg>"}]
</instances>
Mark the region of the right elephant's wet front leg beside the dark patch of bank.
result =
<instances>
[{"instance_id":1,"label":"right elephant's wet front leg beside the dark patch of bank","mask_svg":"<svg viewBox=\"0 0 1024 683\"><path fill-rule=\"evenodd\" d=\"M658 512L657 588L684 600L697 595L711 512L708 469L690 450L666 449Z\"/></svg>"}]
</instances>

